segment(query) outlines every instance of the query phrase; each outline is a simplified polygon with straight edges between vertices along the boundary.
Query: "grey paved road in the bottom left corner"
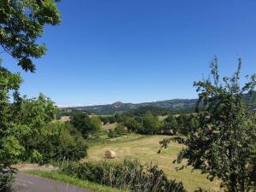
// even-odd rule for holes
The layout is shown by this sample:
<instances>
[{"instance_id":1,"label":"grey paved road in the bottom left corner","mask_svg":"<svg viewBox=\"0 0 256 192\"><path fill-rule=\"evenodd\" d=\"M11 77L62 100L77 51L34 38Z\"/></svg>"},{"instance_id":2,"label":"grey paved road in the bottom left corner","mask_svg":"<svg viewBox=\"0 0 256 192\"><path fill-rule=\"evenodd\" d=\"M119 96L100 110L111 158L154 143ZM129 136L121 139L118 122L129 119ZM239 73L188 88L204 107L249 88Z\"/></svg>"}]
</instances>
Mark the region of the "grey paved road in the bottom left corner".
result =
<instances>
[{"instance_id":1,"label":"grey paved road in the bottom left corner","mask_svg":"<svg viewBox=\"0 0 256 192\"><path fill-rule=\"evenodd\" d=\"M19 173L15 178L16 192L92 192L67 183Z\"/></svg>"}]
</instances>

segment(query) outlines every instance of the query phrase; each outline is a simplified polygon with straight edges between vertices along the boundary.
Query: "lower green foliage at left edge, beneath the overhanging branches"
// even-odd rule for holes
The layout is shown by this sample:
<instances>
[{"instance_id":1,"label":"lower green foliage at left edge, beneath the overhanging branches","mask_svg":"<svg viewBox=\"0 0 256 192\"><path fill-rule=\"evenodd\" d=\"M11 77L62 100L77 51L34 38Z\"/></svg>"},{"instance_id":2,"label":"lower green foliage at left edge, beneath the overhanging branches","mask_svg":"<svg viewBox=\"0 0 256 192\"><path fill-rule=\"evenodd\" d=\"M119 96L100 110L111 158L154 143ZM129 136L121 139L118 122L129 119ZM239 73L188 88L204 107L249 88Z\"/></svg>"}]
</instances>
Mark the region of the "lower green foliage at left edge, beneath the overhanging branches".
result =
<instances>
[{"instance_id":1,"label":"lower green foliage at left edge, beneath the overhanging branches","mask_svg":"<svg viewBox=\"0 0 256 192\"><path fill-rule=\"evenodd\" d=\"M21 78L17 73L10 73L3 67L0 68L0 164L9 166L19 160L24 148L19 141L9 134L18 125L13 122L10 99L18 96ZM12 96L12 92L14 92ZM14 103L15 105L16 103Z\"/></svg>"}]
</instances>

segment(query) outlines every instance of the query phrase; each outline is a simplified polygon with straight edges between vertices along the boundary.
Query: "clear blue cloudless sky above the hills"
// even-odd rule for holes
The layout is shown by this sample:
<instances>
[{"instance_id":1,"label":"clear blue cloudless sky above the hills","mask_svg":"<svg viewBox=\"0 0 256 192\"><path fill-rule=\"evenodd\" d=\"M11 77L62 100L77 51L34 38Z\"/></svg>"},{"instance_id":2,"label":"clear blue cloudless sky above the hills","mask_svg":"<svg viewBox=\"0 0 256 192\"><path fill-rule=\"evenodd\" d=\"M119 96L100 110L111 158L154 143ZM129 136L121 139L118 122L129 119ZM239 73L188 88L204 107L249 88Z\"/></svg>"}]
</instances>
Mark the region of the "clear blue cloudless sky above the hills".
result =
<instances>
[{"instance_id":1,"label":"clear blue cloudless sky above the hills","mask_svg":"<svg viewBox=\"0 0 256 192\"><path fill-rule=\"evenodd\" d=\"M218 55L231 74L256 73L255 0L62 0L60 26L40 41L48 54L36 73L21 72L21 93L59 106L195 98ZM8 64L7 64L8 63ZM14 64L11 64L14 63Z\"/></svg>"}]
</instances>

